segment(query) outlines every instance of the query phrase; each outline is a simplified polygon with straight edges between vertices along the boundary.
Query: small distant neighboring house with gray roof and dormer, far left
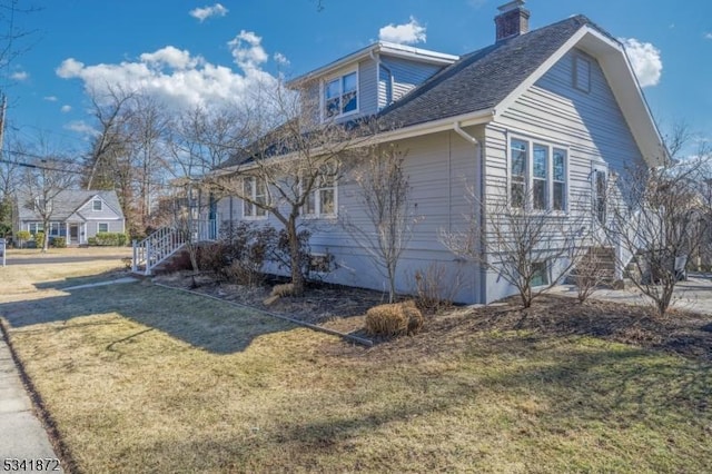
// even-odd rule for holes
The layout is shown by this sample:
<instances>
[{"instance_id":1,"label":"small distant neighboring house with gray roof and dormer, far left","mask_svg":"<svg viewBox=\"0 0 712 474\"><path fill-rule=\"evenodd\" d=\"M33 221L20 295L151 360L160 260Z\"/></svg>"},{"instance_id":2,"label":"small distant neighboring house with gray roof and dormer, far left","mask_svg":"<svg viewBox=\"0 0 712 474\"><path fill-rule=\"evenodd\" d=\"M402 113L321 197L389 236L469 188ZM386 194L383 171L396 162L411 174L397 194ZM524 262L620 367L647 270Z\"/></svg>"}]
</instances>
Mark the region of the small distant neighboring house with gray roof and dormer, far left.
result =
<instances>
[{"instance_id":1,"label":"small distant neighboring house with gray roof and dormer, far left","mask_svg":"<svg viewBox=\"0 0 712 474\"><path fill-rule=\"evenodd\" d=\"M98 233L125 233L126 219L116 191L63 190L52 203L49 229L43 228L42 217L32 200L18 196L14 233L29 230L34 235L47 230L50 239L65 237L67 245L83 245Z\"/></svg>"}]
</instances>

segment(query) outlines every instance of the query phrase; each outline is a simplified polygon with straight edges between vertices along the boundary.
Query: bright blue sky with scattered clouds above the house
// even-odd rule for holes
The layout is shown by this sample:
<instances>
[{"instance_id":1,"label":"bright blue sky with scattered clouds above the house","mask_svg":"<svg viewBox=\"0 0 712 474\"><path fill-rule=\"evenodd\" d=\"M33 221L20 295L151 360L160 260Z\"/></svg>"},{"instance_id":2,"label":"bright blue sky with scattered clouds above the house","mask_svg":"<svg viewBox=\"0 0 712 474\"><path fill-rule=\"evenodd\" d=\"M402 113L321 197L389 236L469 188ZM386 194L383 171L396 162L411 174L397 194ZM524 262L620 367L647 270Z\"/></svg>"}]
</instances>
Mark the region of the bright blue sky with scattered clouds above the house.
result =
<instances>
[{"instance_id":1,"label":"bright blue sky with scattered clouds above the house","mask_svg":"<svg viewBox=\"0 0 712 474\"><path fill-rule=\"evenodd\" d=\"M8 122L52 150L86 149L87 88L141 85L176 106L239 100L254 81L296 77L379 38L462 55L494 41L505 0L21 0L32 31L2 68ZM356 8L357 7L357 8ZM530 0L531 28L583 13L625 40L662 128L712 139L712 1ZM7 22L0 26L7 31Z\"/></svg>"}]
</instances>

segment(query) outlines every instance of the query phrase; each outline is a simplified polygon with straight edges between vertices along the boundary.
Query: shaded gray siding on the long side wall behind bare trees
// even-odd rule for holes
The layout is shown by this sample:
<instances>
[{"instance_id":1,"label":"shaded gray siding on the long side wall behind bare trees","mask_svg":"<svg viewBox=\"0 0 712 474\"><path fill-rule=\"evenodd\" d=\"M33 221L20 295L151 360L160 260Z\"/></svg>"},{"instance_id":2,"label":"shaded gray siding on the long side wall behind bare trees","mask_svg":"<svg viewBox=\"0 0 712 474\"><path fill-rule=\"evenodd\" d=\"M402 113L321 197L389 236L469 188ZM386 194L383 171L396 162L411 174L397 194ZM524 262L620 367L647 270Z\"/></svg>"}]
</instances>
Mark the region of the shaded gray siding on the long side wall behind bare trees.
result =
<instances>
[{"instance_id":1,"label":"shaded gray siding on the long side wall behind bare trees","mask_svg":"<svg viewBox=\"0 0 712 474\"><path fill-rule=\"evenodd\" d=\"M446 282L455 278L462 282L457 295L459 302L478 300L478 268L456 261L455 256L439 243L442 230L464 230L469 224L473 203L467 198L467 189L477 179L478 149L454 132L402 140L397 146L406 154L405 171L412 187L411 211L418 219L398 266L398 290L412 293L415 273L425 271L432 263L437 263L446 269L443 275ZM301 220L301 225L312 230L312 250L335 256L337 269L327 275L327 282L383 290L387 287L387 279L370 259L368 244L349 230L349 226L373 227L360 203L353 170L339 180L337 191L338 219ZM229 198L220 200L220 219L229 216ZM240 199L233 199L233 216L240 219ZM281 227L274 216L258 223ZM446 282L443 282L444 287L454 286Z\"/></svg>"}]
</instances>

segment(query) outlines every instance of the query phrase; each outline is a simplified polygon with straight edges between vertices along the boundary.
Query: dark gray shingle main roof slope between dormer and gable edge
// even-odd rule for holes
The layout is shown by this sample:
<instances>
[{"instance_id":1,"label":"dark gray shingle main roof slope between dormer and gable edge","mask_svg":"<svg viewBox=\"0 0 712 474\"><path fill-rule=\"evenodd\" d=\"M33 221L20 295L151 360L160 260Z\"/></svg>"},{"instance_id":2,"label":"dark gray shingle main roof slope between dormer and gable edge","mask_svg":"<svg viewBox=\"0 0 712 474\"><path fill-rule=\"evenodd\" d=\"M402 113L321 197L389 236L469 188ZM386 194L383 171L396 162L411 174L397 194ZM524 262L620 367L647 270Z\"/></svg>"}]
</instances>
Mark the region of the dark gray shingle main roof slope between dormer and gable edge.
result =
<instances>
[{"instance_id":1,"label":"dark gray shingle main roof slope between dormer and gable edge","mask_svg":"<svg viewBox=\"0 0 712 474\"><path fill-rule=\"evenodd\" d=\"M600 30L575 16L465 55L379 117L399 128L494 108L585 24Z\"/></svg>"}]
</instances>

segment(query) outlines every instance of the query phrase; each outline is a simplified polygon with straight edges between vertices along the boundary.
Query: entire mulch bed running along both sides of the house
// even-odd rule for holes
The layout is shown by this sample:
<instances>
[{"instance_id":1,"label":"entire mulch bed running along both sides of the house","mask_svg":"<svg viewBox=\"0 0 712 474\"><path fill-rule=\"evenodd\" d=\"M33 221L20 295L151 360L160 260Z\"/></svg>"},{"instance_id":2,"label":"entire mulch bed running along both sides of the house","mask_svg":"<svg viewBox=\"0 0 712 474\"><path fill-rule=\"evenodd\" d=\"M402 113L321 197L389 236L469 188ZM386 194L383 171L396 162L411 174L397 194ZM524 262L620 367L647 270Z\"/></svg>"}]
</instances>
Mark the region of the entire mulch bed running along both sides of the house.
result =
<instances>
[{"instance_id":1,"label":"entire mulch bed running along both sides of the house","mask_svg":"<svg viewBox=\"0 0 712 474\"><path fill-rule=\"evenodd\" d=\"M194 283L186 273L159 276L156 280L362 337L366 310L387 300L387 295L380 292L312 285L304 297L283 297L265 306L263 302L270 287L216 283L209 275L198 276ZM526 309L516 298L486 307L456 306L426 316L421 334L380 344L377 349L385 355L394 350L412 352L423 345L419 352L439 352L474 333L493 330L527 330L536 337L592 336L712 362L712 316L672 309L659 317L645 306L593 298L580 304L561 295L543 295Z\"/></svg>"}]
</instances>

